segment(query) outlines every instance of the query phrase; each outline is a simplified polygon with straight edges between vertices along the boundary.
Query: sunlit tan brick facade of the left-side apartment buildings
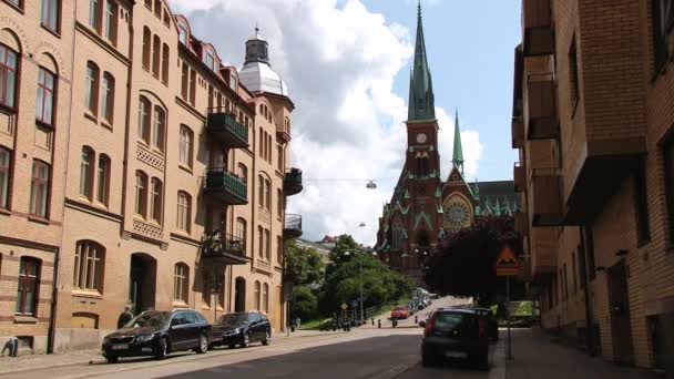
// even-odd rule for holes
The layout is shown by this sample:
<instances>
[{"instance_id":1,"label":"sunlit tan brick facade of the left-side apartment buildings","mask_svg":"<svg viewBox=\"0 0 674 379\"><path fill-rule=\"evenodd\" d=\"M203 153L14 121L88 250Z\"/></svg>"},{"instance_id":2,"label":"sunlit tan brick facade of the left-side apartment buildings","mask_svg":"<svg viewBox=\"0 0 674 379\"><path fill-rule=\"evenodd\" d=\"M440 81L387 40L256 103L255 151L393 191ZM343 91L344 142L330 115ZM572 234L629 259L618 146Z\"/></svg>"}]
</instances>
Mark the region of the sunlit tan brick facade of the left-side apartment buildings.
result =
<instances>
[{"instance_id":1,"label":"sunlit tan brick facade of the left-side apartment buildings","mask_svg":"<svg viewBox=\"0 0 674 379\"><path fill-rule=\"evenodd\" d=\"M20 57L17 105L0 106L0 146L12 156L0 207L0 344L21 336L33 352L96 347L131 300L136 311L191 307L210 321L259 309L280 330L292 101L247 90L164 1L54 1L58 32L40 27L41 2L0 1L0 43ZM52 129L34 121L39 66L57 78ZM234 114L248 146L213 137L210 111ZM29 215L33 158L51 170L45 219ZM244 202L207 194L208 168L232 173L234 185L245 171ZM241 236L243 262L206 259L204 236L215 231ZM40 259L34 315L14 311L24 256ZM186 267L186 294L176 293L176 265Z\"/></svg>"}]
</instances>

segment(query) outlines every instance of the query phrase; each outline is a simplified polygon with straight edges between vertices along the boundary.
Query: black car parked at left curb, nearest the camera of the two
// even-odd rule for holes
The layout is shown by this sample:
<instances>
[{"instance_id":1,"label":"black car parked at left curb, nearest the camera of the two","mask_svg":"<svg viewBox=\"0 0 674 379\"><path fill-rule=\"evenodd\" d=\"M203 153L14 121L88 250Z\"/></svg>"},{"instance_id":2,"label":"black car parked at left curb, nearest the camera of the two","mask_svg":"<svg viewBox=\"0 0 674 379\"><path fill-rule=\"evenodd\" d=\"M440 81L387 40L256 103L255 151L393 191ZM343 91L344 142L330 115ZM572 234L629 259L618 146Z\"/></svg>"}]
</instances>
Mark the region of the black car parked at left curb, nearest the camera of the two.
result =
<instances>
[{"instance_id":1,"label":"black car parked at left curb, nearest the camera of the two","mask_svg":"<svg viewBox=\"0 0 674 379\"><path fill-rule=\"evenodd\" d=\"M103 356L114 363L120 357L154 356L164 359L173 351L208 350L211 325L195 310L147 310L103 339Z\"/></svg>"}]
</instances>

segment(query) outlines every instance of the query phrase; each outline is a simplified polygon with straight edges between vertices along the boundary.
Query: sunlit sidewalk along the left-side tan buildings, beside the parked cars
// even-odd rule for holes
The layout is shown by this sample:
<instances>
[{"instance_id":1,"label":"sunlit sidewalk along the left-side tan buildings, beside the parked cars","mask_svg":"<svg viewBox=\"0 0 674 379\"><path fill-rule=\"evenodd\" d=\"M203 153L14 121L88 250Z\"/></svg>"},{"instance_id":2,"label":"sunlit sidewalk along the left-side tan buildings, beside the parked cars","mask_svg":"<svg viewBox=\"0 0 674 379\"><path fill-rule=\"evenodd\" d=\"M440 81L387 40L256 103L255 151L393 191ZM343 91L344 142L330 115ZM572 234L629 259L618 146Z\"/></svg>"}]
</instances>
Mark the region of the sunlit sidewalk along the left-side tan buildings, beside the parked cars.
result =
<instances>
[{"instance_id":1,"label":"sunlit sidewalk along the left-side tan buildings, beside the parked cars","mask_svg":"<svg viewBox=\"0 0 674 379\"><path fill-rule=\"evenodd\" d=\"M297 330L288 337L285 331L274 334L273 340L285 340L303 337L333 335L331 331L318 330ZM100 349L68 351L64 354L52 355L31 355L18 358L0 357L0 376L10 372L25 370L44 369L49 367L60 367L70 365L85 365L90 362L103 361Z\"/></svg>"}]
</instances>

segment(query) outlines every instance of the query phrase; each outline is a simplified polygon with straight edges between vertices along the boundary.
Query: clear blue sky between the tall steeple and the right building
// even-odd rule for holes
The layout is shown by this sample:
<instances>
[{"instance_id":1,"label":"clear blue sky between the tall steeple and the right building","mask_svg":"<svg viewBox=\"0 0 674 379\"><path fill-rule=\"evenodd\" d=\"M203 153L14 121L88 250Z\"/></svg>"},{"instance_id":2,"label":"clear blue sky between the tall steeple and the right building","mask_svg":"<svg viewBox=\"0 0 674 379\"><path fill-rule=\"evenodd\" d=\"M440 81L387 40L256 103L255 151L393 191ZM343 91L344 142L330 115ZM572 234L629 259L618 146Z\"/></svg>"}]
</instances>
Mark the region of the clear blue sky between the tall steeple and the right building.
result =
<instances>
[{"instance_id":1,"label":"clear blue sky between the tall steeple and the right building","mask_svg":"<svg viewBox=\"0 0 674 379\"><path fill-rule=\"evenodd\" d=\"M362 2L387 22L407 27L415 38L416 1ZM514 47L521 40L521 1L426 0L421 4L436 106L458 107L460 125L480 133L484 146L480 181L512 180L512 164L518 160L510 145L512 70ZM404 69L395 82L395 92L406 100L409 70ZM442 164L448 160L443 156Z\"/></svg>"}]
</instances>

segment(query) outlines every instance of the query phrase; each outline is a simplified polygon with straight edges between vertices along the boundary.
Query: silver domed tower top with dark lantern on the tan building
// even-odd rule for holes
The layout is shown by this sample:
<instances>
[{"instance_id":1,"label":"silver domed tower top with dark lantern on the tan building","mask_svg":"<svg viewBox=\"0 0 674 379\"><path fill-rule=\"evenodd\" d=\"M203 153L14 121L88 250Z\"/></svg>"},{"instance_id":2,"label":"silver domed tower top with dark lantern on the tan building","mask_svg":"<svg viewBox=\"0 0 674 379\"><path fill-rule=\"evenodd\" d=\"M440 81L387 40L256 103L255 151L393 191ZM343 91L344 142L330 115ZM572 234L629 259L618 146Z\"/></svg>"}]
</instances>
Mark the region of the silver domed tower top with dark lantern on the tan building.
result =
<instances>
[{"instance_id":1,"label":"silver domed tower top with dark lantern on the tan building","mask_svg":"<svg viewBox=\"0 0 674 379\"><path fill-rule=\"evenodd\" d=\"M246 41L246 61L238 73L241 82L253 93L267 92L288 96L288 88L269 64L269 43L255 28L255 34Z\"/></svg>"}]
</instances>

